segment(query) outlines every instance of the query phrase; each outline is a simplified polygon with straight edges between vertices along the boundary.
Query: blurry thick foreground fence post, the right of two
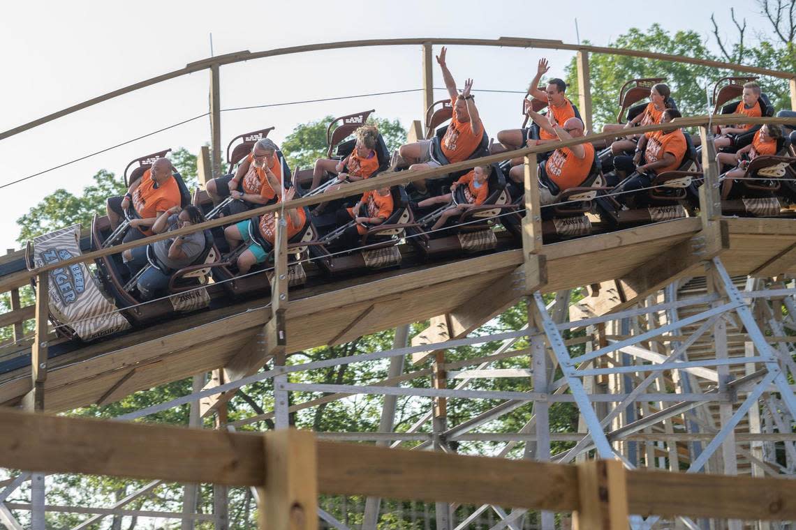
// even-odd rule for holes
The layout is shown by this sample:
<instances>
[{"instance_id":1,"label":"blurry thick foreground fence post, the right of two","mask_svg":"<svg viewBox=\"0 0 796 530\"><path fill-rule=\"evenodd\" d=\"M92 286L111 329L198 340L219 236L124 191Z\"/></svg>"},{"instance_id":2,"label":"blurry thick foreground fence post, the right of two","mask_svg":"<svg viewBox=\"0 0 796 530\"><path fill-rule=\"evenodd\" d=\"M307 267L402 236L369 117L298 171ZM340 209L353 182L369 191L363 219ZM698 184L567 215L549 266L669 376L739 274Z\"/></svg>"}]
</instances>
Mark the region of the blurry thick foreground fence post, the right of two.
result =
<instances>
[{"instance_id":1,"label":"blurry thick foreground fence post, the right of two","mask_svg":"<svg viewBox=\"0 0 796 530\"><path fill-rule=\"evenodd\" d=\"M580 509L573 512L575 530L627 530L627 482L618 460L578 464Z\"/></svg>"}]
</instances>

